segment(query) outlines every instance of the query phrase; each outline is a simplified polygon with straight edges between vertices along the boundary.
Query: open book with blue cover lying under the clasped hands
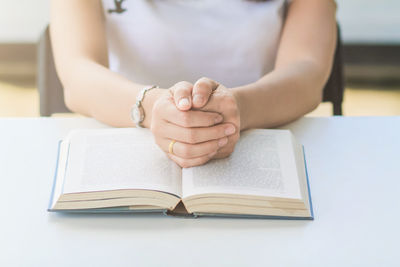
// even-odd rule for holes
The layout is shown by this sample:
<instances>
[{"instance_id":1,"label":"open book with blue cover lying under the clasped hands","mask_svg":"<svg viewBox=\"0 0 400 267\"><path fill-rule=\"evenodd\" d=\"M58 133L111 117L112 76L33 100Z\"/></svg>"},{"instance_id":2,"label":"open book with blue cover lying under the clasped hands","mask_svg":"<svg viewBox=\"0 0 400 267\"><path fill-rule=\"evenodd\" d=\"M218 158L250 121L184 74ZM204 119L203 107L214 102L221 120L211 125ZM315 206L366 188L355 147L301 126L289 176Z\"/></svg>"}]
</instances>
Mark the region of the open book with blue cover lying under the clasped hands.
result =
<instances>
[{"instance_id":1,"label":"open book with blue cover lying under the clasped hands","mask_svg":"<svg viewBox=\"0 0 400 267\"><path fill-rule=\"evenodd\" d=\"M181 169L147 129L75 130L60 142L49 211L312 219L302 146L242 132L225 159Z\"/></svg>"}]
</instances>

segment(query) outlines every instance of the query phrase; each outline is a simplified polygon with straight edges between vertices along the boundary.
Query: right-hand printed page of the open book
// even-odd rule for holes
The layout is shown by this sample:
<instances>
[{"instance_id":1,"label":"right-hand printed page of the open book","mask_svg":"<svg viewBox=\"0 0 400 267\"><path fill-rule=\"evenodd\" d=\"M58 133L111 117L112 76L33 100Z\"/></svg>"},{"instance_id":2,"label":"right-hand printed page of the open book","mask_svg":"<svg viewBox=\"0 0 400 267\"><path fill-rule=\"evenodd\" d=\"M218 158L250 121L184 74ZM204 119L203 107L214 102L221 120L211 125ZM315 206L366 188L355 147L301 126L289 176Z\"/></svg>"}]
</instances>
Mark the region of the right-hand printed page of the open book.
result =
<instances>
[{"instance_id":1,"label":"right-hand printed page of the open book","mask_svg":"<svg viewBox=\"0 0 400 267\"><path fill-rule=\"evenodd\" d=\"M301 199L291 133L243 132L230 157L182 172L183 197L241 194Z\"/></svg>"}]
</instances>

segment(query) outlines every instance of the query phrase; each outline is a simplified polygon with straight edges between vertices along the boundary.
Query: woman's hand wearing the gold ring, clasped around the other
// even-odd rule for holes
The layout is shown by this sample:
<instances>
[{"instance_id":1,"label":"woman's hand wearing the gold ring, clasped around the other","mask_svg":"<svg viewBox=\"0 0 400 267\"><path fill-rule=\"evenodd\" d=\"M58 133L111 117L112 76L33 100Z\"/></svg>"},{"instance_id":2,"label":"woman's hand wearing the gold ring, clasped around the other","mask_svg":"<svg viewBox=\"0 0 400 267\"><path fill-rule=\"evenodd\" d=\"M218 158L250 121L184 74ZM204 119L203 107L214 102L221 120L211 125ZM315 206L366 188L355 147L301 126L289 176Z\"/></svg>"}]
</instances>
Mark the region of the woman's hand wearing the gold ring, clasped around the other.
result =
<instances>
[{"instance_id":1,"label":"woman's hand wearing the gold ring, clasped around the other","mask_svg":"<svg viewBox=\"0 0 400 267\"><path fill-rule=\"evenodd\" d=\"M233 123L221 123L224 118L217 112L189 110L191 98L185 100L185 97L181 97L179 106L182 110L179 110L174 96L185 96L183 93L191 92L192 89L193 85L188 82L175 84L158 97L151 112L150 129L157 145L179 166L185 168L202 165L218 155L232 140L230 136L237 136L238 131L237 125ZM169 153L171 141L176 141L173 154ZM224 153L230 150L224 150Z\"/></svg>"}]
</instances>

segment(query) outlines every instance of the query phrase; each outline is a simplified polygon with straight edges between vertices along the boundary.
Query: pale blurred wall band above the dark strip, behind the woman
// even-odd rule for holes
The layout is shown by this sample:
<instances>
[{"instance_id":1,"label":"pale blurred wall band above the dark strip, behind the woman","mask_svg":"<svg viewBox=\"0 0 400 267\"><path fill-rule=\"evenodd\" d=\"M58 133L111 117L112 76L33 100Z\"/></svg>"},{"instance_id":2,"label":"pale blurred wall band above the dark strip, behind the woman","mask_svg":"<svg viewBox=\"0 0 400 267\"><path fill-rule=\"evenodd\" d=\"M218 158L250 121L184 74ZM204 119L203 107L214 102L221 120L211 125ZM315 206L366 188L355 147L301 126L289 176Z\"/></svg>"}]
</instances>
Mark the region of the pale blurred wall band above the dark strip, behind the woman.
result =
<instances>
[{"instance_id":1,"label":"pale blurred wall band above the dark strip, behind the woman","mask_svg":"<svg viewBox=\"0 0 400 267\"><path fill-rule=\"evenodd\" d=\"M36 42L48 23L49 1L0 0L0 43ZM400 44L399 0L337 0L337 3L346 43Z\"/></svg>"}]
</instances>

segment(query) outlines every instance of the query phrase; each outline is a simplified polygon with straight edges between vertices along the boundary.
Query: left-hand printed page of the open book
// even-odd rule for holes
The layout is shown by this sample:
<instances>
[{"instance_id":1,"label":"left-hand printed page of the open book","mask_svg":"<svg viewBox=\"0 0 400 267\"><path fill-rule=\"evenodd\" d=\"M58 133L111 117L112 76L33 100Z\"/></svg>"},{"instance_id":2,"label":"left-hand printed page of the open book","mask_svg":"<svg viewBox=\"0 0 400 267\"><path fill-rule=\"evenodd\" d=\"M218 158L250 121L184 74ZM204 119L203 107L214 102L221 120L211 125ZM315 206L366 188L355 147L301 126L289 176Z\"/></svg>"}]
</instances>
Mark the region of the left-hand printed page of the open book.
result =
<instances>
[{"instance_id":1,"label":"left-hand printed page of the open book","mask_svg":"<svg viewBox=\"0 0 400 267\"><path fill-rule=\"evenodd\" d=\"M63 193L149 189L181 196L181 169L147 129L72 132Z\"/></svg>"}]
</instances>

